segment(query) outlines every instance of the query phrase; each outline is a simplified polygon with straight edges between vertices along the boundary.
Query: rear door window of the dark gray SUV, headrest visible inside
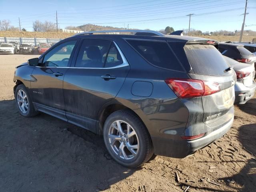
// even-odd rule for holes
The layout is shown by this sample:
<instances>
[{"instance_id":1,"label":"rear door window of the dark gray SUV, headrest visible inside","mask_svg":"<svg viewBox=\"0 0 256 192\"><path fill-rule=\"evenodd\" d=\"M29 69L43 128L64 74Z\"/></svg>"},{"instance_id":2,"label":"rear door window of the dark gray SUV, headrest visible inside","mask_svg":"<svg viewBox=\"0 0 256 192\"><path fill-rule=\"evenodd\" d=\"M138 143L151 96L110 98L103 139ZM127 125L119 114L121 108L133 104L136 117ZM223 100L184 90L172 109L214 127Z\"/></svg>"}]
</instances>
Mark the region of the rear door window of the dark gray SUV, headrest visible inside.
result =
<instances>
[{"instance_id":1,"label":"rear door window of the dark gray SUV, headrest visible inside","mask_svg":"<svg viewBox=\"0 0 256 192\"><path fill-rule=\"evenodd\" d=\"M103 68L110 44L109 40L84 40L78 53L76 67Z\"/></svg>"}]
</instances>

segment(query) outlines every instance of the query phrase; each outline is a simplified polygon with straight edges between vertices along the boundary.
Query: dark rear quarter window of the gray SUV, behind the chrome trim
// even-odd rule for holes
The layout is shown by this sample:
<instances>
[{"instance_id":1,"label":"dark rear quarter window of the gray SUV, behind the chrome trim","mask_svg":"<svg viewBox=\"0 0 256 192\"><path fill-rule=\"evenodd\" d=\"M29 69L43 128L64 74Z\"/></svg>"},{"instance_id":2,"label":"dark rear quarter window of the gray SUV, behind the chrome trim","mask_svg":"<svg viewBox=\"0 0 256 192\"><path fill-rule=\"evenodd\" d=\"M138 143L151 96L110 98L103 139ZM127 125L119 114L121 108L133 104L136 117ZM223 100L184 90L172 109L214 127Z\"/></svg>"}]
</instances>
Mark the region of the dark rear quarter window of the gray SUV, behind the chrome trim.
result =
<instances>
[{"instance_id":1,"label":"dark rear quarter window of the gray SUV, behind the chrome trim","mask_svg":"<svg viewBox=\"0 0 256 192\"><path fill-rule=\"evenodd\" d=\"M184 71L166 42L127 40L127 42L154 66Z\"/></svg>"}]
</instances>

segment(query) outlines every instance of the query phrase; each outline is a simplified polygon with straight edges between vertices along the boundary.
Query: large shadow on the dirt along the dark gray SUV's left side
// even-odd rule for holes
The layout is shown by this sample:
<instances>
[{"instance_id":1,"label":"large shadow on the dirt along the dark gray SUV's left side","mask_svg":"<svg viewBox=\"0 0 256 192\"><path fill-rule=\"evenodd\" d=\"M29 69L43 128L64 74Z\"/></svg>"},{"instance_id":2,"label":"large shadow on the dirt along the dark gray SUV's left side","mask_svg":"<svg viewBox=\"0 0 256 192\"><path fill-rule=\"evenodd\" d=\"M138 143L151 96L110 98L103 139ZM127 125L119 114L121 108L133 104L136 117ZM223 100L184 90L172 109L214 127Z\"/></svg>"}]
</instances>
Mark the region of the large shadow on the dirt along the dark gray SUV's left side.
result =
<instances>
[{"instance_id":1,"label":"large shadow on the dirt along the dark gray SUV's left side","mask_svg":"<svg viewBox=\"0 0 256 192\"><path fill-rule=\"evenodd\" d=\"M0 101L0 122L1 191L101 191L140 169L117 164L92 132L47 114L21 116L14 100Z\"/></svg>"}]
</instances>

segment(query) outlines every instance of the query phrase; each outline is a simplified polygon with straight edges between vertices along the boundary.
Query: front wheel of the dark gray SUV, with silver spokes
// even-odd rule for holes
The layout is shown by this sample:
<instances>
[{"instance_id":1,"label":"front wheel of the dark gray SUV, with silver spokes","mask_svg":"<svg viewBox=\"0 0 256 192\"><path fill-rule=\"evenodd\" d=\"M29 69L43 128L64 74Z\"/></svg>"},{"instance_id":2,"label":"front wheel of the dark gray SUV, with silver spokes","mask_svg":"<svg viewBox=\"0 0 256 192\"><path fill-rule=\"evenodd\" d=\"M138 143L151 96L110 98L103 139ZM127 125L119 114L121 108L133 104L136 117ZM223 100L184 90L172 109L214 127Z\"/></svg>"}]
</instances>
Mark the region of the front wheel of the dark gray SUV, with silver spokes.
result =
<instances>
[{"instance_id":1,"label":"front wheel of the dark gray SUV, with silver spokes","mask_svg":"<svg viewBox=\"0 0 256 192\"><path fill-rule=\"evenodd\" d=\"M22 116L33 117L38 114L24 84L20 84L16 87L15 100L18 110Z\"/></svg>"}]
</instances>

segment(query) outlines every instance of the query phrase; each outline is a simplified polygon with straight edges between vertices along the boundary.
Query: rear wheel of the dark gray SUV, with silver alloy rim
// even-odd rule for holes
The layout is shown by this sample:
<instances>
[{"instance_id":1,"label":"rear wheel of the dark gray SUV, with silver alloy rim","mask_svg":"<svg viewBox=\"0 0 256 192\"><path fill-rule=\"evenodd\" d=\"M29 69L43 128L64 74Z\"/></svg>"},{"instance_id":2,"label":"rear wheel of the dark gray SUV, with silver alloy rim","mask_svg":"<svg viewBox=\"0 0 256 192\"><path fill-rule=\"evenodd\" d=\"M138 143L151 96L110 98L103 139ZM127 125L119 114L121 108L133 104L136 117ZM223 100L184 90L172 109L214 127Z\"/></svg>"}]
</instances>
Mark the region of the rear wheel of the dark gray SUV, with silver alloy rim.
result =
<instances>
[{"instance_id":1,"label":"rear wheel of the dark gray SUV, with silver alloy rim","mask_svg":"<svg viewBox=\"0 0 256 192\"><path fill-rule=\"evenodd\" d=\"M146 127L129 110L110 114L104 123L103 136L108 152L123 166L140 166L153 155L152 142Z\"/></svg>"}]
</instances>

